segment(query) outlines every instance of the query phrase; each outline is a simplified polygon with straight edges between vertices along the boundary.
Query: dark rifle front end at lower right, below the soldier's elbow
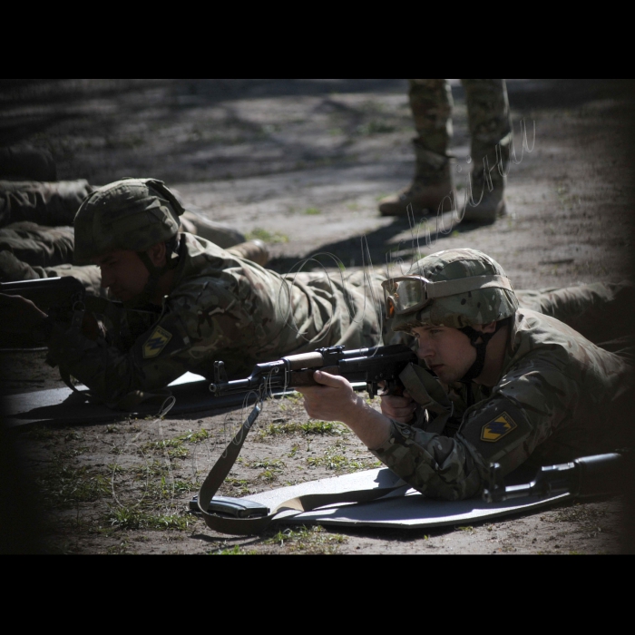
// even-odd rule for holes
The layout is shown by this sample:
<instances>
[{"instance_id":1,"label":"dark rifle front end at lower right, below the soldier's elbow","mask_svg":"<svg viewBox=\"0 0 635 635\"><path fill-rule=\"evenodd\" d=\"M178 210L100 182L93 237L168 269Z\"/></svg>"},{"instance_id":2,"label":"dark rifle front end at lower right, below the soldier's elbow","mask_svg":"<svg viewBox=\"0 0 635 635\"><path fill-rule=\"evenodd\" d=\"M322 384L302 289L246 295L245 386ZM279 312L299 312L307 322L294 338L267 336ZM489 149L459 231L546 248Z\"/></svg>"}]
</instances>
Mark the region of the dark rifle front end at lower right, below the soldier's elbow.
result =
<instances>
[{"instance_id":1,"label":"dark rifle front end at lower right, below the soldier's elbow","mask_svg":"<svg viewBox=\"0 0 635 635\"><path fill-rule=\"evenodd\" d=\"M620 492L624 457L621 453L601 454L577 459L572 463L542 467L532 483L505 486L500 464L490 467L485 503L503 503L527 496L556 497L563 494L581 498Z\"/></svg>"}]
</instances>

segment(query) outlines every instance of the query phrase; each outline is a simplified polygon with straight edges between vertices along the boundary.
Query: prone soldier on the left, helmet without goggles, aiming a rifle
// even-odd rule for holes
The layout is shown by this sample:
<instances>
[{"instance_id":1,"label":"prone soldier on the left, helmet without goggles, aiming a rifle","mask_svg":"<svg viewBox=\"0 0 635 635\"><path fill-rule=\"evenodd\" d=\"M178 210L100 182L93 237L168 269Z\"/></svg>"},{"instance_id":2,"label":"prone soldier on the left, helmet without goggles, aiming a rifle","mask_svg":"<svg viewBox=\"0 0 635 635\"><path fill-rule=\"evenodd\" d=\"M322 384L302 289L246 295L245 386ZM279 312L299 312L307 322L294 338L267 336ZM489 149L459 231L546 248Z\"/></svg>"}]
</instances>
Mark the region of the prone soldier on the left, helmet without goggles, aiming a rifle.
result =
<instances>
[{"instance_id":1,"label":"prone soldier on the left, helmet without goggles, aiming a rifle","mask_svg":"<svg viewBox=\"0 0 635 635\"><path fill-rule=\"evenodd\" d=\"M20 327L39 328L52 363L120 408L187 371L211 379L215 361L243 376L259 362L318 347L381 342L381 279L278 276L180 233L182 213L161 181L117 181L93 192L75 218L75 260L101 269L103 287L131 310L101 325L87 314L81 327L81 316L74 326L58 323L23 298L0 296L5 329L12 315Z\"/></svg>"}]
</instances>

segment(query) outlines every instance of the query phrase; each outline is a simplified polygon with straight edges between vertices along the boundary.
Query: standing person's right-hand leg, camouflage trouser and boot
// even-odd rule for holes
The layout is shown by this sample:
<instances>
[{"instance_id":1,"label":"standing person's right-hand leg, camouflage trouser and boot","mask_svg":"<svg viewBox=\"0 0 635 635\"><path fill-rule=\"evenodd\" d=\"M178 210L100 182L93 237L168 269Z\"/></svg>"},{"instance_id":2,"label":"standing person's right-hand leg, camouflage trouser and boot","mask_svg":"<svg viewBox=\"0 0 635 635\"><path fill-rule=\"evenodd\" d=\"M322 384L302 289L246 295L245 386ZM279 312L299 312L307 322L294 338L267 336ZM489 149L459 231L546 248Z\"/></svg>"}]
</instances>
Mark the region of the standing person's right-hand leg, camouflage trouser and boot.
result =
<instances>
[{"instance_id":1,"label":"standing person's right-hand leg, camouflage trouser and boot","mask_svg":"<svg viewBox=\"0 0 635 635\"><path fill-rule=\"evenodd\" d=\"M466 221L493 223L506 213L505 177L509 168L512 118L503 79L462 79L472 135L472 188ZM483 199L481 200L481 195ZM480 200L480 202L479 202Z\"/></svg>"}]
</instances>

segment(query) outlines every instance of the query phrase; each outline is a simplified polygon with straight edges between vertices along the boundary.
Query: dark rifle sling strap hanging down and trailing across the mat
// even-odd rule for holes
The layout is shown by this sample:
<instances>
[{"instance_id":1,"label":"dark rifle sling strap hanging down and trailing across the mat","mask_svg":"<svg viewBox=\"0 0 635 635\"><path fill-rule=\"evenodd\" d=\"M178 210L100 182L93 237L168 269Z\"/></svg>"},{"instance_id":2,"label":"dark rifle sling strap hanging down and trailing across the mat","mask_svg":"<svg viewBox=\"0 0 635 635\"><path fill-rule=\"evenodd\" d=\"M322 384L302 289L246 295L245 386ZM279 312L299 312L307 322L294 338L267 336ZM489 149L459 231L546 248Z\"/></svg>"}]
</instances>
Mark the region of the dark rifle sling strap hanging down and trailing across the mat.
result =
<instances>
[{"instance_id":1,"label":"dark rifle sling strap hanging down and trailing across the mat","mask_svg":"<svg viewBox=\"0 0 635 635\"><path fill-rule=\"evenodd\" d=\"M376 488L372 490L360 490L357 492L308 494L299 496L284 503L280 503L275 510L269 510L269 515L259 518L233 518L210 513L210 504L214 496L224 483L231 468L236 463L240 450L245 443L247 435L252 426L256 423L262 410L261 403L257 404L247 421L242 425L238 435L227 447L219 461L212 467L205 483L202 484L199 493L199 509L207 526L214 532L228 533L231 535L257 535L264 532L271 523L274 522L278 513L285 511L295 511L298 513L311 512L319 507L333 505L337 503L369 503L376 501L389 493L398 489L403 489L404 484L397 486Z\"/></svg>"}]
</instances>

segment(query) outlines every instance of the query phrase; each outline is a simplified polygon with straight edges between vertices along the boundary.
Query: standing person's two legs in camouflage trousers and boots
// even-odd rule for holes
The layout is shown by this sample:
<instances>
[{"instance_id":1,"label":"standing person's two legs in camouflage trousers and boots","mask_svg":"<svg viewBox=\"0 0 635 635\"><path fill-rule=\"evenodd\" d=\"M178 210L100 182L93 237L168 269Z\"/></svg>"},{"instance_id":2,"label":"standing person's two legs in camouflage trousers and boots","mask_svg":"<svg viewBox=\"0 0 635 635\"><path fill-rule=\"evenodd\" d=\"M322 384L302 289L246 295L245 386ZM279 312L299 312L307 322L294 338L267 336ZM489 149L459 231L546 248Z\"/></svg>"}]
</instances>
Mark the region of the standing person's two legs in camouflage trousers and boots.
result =
<instances>
[{"instance_id":1,"label":"standing person's two legs in camouflage trousers and boots","mask_svg":"<svg viewBox=\"0 0 635 635\"><path fill-rule=\"evenodd\" d=\"M445 211L453 210L455 202L462 208L462 204L454 200L454 164L450 155L454 103L450 83L445 79L408 81L418 134L415 180L405 190L381 200L379 210L384 216L405 216L409 205L416 212L427 214L436 214L440 206ZM468 202L464 220L493 223L506 213L503 174L507 173L512 142L507 87L503 79L462 79L461 82L472 135L473 165L473 200Z\"/></svg>"}]
</instances>

